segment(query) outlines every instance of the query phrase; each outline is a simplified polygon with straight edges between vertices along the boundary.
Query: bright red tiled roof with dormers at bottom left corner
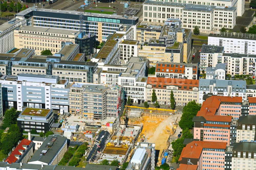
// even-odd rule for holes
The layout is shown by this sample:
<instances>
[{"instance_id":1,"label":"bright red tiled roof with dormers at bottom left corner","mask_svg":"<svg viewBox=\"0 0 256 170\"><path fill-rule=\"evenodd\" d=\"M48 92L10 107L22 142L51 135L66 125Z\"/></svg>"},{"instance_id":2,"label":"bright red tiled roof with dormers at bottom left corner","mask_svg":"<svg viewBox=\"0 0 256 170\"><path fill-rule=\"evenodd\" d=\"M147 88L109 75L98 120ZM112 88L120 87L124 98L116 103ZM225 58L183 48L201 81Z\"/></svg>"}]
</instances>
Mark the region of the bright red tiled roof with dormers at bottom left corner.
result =
<instances>
[{"instance_id":1,"label":"bright red tiled roof with dormers at bottom left corner","mask_svg":"<svg viewBox=\"0 0 256 170\"><path fill-rule=\"evenodd\" d=\"M18 159L15 157L15 155L22 155L19 150L25 150L22 145L28 146L31 142L31 140L23 139L12 151L12 153L6 158L5 162L8 162L9 164L16 162Z\"/></svg>"}]
</instances>

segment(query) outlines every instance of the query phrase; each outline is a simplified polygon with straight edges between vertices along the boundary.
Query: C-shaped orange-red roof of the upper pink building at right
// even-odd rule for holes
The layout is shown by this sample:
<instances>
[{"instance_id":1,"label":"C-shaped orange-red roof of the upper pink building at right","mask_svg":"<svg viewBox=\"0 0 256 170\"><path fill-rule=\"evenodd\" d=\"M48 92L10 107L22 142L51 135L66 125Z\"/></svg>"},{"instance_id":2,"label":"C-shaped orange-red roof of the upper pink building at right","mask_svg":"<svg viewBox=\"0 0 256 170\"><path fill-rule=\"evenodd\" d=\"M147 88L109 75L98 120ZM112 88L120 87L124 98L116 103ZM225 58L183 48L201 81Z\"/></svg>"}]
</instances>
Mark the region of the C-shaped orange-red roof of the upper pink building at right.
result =
<instances>
[{"instance_id":1,"label":"C-shaped orange-red roof of the upper pink building at right","mask_svg":"<svg viewBox=\"0 0 256 170\"><path fill-rule=\"evenodd\" d=\"M202 104L196 116L203 116L206 120L231 122L232 116L215 115L221 102L242 103L242 97L211 96Z\"/></svg>"}]
</instances>

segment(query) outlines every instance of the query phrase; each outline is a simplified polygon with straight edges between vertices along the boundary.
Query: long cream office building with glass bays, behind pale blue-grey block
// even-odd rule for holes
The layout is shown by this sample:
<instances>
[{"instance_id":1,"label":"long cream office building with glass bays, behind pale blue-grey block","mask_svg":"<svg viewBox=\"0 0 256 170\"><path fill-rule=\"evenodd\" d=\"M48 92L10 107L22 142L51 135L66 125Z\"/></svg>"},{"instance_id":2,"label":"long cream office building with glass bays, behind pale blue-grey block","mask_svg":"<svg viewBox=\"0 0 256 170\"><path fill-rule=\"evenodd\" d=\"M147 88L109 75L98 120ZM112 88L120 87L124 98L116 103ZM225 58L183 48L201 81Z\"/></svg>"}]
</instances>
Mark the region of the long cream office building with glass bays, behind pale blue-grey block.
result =
<instances>
[{"instance_id":1,"label":"long cream office building with glass bays, behind pale blue-grey block","mask_svg":"<svg viewBox=\"0 0 256 170\"><path fill-rule=\"evenodd\" d=\"M57 56L33 56L33 51L22 48L17 54L0 54L2 74L55 75L70 82L92 83L93 76L98 70L97 63L62 60L60 54L59 56L57 54L55 54ZM71 53L66 52L67 57ZM67 57L63 56L64 59Z\"/></svg>"}]
</instances>

